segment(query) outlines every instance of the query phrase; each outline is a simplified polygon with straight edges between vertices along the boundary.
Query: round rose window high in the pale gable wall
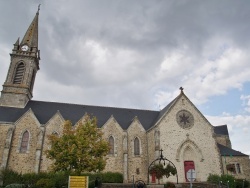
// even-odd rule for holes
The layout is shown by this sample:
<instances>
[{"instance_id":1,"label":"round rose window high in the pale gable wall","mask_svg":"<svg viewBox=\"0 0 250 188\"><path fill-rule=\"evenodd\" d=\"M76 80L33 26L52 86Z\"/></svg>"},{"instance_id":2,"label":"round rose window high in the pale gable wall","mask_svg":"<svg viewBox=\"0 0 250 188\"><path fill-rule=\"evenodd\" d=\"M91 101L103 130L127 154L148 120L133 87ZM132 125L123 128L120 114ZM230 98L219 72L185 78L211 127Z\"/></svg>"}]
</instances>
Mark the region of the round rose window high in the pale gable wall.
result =
<instances>
[{"instance_id":1,"label":"round rose window high in the pale gable wall","mask_svg":"<svg viewBox=\"0 0 250 188\"><path fill-rule=\"evenodd\" d=\"M187 110L180 110L176 114L176 121L183 129L190 129L194 125L194 116Z\"/></svg>"}]
</instances>

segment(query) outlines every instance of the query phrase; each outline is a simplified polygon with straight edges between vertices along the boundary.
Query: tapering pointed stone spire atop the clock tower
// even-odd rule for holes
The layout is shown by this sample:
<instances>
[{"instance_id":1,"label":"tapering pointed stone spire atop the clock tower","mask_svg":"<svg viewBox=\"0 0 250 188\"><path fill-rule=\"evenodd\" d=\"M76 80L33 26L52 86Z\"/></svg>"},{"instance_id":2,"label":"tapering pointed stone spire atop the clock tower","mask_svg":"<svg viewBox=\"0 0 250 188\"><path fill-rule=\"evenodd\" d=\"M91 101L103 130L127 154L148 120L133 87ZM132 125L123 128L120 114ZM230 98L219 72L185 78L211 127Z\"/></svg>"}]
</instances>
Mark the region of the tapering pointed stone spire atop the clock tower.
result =
<instances>
[{"instance_id":1,"label":"tapering pointed stone spire atop the clock tower","mask_svg":"<svg viewBox=\"0 0 250 188\"><path fill-rule=\"evenodd\" d=\"M40 8L38 7L38 10L36 12L36 15L31 22L28 30L26 31L22 42L20 43L21 45L27 44L29 47L37 47L38 48L38 16L39 16L39 10Z\"/></svg>"}]
</instances>

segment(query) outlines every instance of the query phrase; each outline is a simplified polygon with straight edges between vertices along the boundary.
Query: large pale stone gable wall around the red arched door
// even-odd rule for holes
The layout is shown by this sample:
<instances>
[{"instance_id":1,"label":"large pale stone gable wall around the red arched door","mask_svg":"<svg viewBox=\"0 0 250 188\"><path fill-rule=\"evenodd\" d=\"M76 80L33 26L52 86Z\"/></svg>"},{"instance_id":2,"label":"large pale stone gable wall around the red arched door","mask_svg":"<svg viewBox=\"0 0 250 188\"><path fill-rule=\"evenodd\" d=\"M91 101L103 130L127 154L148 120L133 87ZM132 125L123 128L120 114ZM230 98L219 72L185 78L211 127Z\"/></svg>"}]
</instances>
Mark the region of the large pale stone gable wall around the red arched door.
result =
<instances>
[{"instance_id":1,"label":"large pale stone gable wall around the red arched door","mask_svg":"<svg viewBox=\"0 0 250 188\"><path fill-rule=\"evenodd\" d=\"M181 128L176 121L177 112L183 109L194 116L194 125L190 129ZM185 181L185 160L194 161L198 181L206 181L209 173L221 173L220 155L213 138L213 129L186 97L182 96L176 102L160 121L159 129L163 155L176 165L180 182ZM169 180L176 181L173 177Z\"/></svg>"}]
</instances>

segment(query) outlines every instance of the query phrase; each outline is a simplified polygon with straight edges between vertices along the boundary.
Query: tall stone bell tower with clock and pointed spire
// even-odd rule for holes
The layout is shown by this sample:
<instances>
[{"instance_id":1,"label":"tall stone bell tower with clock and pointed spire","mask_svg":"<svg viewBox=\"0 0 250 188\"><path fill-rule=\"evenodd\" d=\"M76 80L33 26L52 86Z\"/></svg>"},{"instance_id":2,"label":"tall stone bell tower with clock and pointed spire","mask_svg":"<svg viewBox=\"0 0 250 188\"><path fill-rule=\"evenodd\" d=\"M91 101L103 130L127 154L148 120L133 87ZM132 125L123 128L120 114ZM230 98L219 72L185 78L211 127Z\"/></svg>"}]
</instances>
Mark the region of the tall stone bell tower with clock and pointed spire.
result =
<instances>
[{"instance_id":1,"label":"tall stone bell tower with clock and pointed spire","mask_svg":"<svg viewBox=\"0 0 250 188\"><path fill-rule=\"evenodd\" d=\"M10 66L1 91L0 106L23 108L33 97L33 86L39 70L39 10L22 41L17 39L10 54Z\"/></svg>"}]
</instances>

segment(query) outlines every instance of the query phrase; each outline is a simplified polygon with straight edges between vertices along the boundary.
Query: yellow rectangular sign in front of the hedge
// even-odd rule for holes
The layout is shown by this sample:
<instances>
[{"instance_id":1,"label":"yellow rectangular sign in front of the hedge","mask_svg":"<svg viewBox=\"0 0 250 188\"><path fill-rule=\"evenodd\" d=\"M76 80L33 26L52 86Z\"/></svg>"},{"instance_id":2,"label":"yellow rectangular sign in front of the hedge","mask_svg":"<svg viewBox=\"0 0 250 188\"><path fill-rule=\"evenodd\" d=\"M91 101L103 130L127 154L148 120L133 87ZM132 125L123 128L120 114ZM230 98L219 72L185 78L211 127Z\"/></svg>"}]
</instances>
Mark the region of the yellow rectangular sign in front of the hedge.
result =
<instances>
[{"instance_id":1,"label":"yellow rectangular sign in front of the hedge","mask_svg":"<svg viewBox=\"0 0 250 188\"><path fill-rule=\"evenodd\" d=\"M88 188L89 177L88 176L69 176L68 188Z\"/></svg>"}]
</instances>

